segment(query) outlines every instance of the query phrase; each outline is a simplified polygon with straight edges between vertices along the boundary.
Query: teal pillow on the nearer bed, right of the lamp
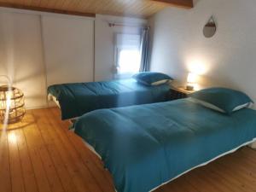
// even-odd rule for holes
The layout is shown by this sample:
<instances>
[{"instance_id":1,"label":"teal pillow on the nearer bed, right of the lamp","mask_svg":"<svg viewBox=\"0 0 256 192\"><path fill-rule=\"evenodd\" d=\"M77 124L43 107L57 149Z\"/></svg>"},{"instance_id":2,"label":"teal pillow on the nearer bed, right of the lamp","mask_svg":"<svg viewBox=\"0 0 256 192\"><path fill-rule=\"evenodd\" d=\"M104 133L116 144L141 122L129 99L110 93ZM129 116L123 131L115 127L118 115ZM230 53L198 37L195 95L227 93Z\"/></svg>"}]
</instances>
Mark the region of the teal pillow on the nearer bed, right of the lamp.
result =
<instances>
[{"instance_id":1,"label":"teal pillow on the nearer bed, right of the lamp","mask_svg":"<svg viewBox=\"0 0 256 192\"><path fill-rule=\"evenodd\" d=\"M207 108L229 114L253 103L249 96L239 90L220 87L199 90L189 96Z\"/></svg>"}]
</instances>

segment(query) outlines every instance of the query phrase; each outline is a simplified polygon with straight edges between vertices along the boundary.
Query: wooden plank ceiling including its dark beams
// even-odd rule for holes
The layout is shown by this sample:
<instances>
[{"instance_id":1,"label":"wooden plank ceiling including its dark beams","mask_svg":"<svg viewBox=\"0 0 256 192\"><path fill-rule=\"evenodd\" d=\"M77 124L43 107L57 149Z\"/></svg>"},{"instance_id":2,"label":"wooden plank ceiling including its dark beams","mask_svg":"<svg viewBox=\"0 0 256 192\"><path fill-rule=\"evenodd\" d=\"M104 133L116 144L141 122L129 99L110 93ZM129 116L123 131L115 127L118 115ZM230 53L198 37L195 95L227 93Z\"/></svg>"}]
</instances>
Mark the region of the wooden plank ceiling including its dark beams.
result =
<instances>
[{"instance_id":1,"label":"wooden plank ceiling including its dark beams","mask_svg":"<svg viewBox=\"0 0 256 192\"><path fill-rule=\"evenodd\" d=\"M193 0L0 0L0 7L70 15L126 15L147 18L169 6L192 8Z\"/></svg>"}]
</instances>

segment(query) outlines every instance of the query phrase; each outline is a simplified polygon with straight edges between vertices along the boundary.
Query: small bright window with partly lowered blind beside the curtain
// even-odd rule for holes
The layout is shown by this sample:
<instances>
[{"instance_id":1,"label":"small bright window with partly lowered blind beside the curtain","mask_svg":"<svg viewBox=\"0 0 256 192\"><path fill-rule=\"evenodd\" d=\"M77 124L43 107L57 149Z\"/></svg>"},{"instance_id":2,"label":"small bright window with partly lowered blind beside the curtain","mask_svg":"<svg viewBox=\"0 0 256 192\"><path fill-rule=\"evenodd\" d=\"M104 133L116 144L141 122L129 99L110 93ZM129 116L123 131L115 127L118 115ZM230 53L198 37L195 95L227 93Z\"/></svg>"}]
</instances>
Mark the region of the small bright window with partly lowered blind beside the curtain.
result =
<instances>
[{"instance_id":1,"label":"small bright window with partly lowered blind beside the curtain","mask_svg":"<svg viewBox=\"0 0 256 192\"><path fill-rule=\"evenodd\" d=\"M137 34L117 34L115 65L119 78L137 73L141 64L141 36Z\"/></svg>"}]
</instances>

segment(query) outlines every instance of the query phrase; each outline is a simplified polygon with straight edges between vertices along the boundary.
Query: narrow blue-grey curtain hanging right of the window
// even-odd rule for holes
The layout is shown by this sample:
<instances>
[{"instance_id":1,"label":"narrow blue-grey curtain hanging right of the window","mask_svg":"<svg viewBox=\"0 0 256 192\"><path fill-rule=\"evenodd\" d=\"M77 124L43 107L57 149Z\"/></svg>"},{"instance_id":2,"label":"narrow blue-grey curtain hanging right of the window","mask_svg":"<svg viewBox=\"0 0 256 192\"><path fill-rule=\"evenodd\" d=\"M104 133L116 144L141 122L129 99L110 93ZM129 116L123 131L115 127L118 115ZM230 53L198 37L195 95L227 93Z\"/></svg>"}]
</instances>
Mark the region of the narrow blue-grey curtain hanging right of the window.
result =
<instances>
[{"instance_id":1,"label":"narrow blue-grey curtain hanging right of the window","mask_svg":"<svg viewBox=\"0 0 256 192\"><path fill-rule=\"evenodd\" d=\"M148 55L148 47L149 47L149 27L143 28L142 32L142 40L141 40L141 53L142 53L142 59L141 59L141 67L140 72L148 72L150 69L149 66L149 55Z\"/></svg>"}]
</instances>

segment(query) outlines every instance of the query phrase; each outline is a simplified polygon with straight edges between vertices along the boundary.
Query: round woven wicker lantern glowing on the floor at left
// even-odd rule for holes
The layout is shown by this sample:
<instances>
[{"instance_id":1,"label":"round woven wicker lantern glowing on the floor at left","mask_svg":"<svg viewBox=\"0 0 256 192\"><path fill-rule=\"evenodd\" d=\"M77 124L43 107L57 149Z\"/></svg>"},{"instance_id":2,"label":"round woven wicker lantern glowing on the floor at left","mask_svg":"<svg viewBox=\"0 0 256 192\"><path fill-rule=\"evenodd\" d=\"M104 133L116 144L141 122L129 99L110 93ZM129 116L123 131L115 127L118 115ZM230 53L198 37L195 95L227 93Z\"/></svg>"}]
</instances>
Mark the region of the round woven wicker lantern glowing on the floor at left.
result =
<instances>
[{"instance_id":1,"label":"round woven wicker lantern glowing on the floor at left","mask_svg":"<svg viewBox=\"0 0 256 192\"><path fill-rule=\"evenodd\" d=\"M24 94L8 85L0 86L0 121L15 123L25 115Z\"/></svg>"}]
</instances>

